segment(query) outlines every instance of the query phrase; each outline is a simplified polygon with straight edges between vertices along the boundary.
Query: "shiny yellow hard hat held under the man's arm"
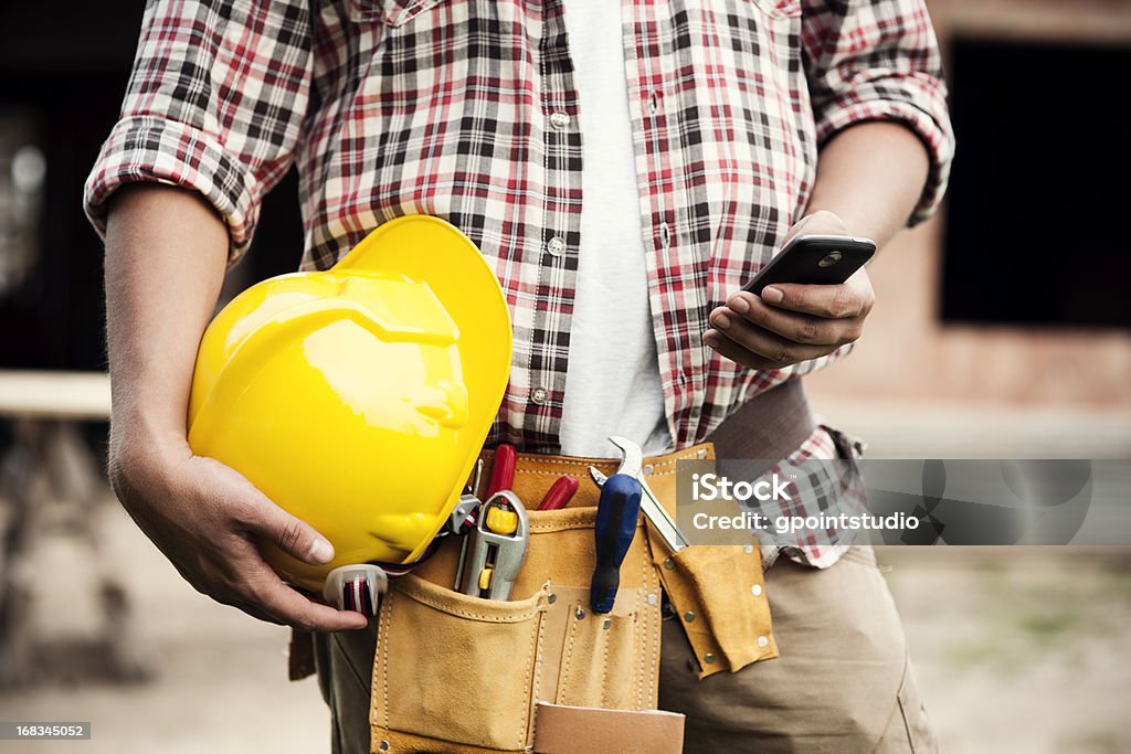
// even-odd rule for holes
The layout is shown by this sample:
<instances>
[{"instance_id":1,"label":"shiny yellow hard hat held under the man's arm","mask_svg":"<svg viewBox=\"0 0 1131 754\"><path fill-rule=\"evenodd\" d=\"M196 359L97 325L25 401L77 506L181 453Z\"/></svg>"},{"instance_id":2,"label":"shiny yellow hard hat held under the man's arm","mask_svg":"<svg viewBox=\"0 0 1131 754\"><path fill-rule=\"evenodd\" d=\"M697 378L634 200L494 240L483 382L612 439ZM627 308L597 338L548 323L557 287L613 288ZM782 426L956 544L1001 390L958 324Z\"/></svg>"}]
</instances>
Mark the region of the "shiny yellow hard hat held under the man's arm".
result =
<instances>
[{"instance_id":1,"label":"shiny yellow hard hat held under the man's arm","mask_svg":"<svg viewBox=\"0 0 1131 754\"><path fill-rule=\"evenodd\" d=\"M280 575L320 589L338 566L423 553L475 465L510 356L480 251L441 219L402 217L331 269L259 283L216 315L189 444L329 539L323 566L261 545Z\"/></svg>"}]
</instances>

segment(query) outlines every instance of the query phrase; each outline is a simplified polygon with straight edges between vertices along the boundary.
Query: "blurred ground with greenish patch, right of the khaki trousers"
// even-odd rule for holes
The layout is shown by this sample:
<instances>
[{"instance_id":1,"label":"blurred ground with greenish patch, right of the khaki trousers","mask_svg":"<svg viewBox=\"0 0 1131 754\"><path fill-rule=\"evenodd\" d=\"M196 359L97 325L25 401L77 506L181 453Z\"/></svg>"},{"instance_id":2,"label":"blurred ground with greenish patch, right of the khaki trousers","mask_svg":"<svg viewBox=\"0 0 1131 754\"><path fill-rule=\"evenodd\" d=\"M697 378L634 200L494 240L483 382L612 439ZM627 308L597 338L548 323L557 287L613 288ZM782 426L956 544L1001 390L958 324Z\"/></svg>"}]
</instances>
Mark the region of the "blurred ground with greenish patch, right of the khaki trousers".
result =
<instances>
[{"instance_id":1,"label":"blurred ground with greenish patch, right of the khaki trousers","mask_svg":"<svg viewBox=\"0 0 1131 754\"><path fill-rule=\"evenodd\" d=\"M943 751L1131 752L1131 552L887 547L879 560Z\"/></svg>"}]
</instances>

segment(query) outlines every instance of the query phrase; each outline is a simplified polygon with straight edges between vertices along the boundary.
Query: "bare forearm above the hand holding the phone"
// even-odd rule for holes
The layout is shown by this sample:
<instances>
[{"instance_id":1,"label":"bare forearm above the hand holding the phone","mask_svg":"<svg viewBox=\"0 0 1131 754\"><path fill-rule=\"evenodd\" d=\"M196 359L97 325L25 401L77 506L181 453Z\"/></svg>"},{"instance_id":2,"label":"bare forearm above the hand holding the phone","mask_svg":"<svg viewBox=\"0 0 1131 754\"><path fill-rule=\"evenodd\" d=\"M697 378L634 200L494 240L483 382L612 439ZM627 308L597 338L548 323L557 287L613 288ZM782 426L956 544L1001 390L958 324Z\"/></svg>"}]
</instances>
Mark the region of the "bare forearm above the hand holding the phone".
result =
<instances>
[{"instance_id":1,"label":"bare forearm above the hand holding the phone","mask_svg":"<svg viewBox=\"0 0 1131 754\"><path fill-rule=\"evenodd\" d=\"M854 125L821 150L806 214L831 211L851 235L872 239L882 249L907 225L929 171L926 147L906 127Z\"/></svg>"}]
</instances>

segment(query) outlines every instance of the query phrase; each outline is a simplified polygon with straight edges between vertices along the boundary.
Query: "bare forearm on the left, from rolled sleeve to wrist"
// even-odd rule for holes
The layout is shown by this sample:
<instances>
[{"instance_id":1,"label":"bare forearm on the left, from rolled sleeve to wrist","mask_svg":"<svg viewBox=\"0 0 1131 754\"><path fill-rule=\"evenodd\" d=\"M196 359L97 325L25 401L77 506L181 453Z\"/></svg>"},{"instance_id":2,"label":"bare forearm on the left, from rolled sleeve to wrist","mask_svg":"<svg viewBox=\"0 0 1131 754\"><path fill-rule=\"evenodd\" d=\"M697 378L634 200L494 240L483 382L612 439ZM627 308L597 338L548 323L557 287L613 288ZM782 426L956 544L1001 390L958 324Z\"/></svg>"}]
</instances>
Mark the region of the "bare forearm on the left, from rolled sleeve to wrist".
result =
<instances>
[{"instance_id":1,"label":"bare forearm on the left, from rolled sleeve to wrist","mask_svg":"<svg viewBox=\"0 0 1131 754\"><path fill-rule=\"evenodd\" d=\"M197 193L158 184L112 199L106 226L106 331L113 442L185 447L200 336L224 280L223 220Z\"/></svg>"}]
</instances>

